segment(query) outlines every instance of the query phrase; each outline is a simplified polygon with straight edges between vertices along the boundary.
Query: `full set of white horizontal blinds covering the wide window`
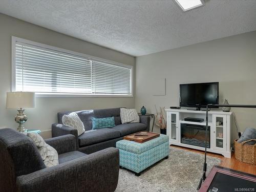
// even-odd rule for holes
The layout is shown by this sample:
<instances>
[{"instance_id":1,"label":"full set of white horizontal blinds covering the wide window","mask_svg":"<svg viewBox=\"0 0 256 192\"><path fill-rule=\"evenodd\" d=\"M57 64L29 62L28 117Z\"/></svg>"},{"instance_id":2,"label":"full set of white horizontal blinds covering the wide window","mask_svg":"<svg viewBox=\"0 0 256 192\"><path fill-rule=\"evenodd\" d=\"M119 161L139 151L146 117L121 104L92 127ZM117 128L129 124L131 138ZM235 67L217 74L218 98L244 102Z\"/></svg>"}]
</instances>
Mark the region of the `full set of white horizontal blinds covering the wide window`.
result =
<instances>
[{"instance_id":1,"label":"full set of white horizontal blinds covering the wide window","mask_svg":"<svg viewBox=\"0 0 256 192\"><path fill-rule=\"evenodd\" d=\"M129 66L15 42L15 91L131 95L131 73Z\"/></svg>"}]
</instances>

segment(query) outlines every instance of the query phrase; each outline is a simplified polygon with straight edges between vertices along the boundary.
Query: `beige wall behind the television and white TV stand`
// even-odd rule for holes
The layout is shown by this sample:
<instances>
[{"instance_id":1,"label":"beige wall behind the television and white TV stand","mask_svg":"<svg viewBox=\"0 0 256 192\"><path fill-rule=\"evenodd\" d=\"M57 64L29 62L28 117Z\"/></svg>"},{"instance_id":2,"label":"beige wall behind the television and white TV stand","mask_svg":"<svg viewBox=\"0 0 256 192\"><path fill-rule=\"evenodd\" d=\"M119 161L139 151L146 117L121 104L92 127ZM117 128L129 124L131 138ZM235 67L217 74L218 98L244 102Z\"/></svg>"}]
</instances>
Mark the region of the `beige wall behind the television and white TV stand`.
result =
<instances>
[{"instance_id":1,"label":"beige wall behind the television and white TV stand","mask_svg":"<svg viewBox=\"0 0 256 192\"><path fill-rule=\"evenodd\" d=\"M154 78L166 78L166 95L153 96ZM135 106L179 106L179 84L220 82L220 103L256 104L256 31L136 58ZM256 109L231 109L239 131L256 128ZM232 139L237 138L232 123ZM156 129L158 130L158 129ZM158 130L159 131L159 130Z\"/></svg>"}]
</instances>

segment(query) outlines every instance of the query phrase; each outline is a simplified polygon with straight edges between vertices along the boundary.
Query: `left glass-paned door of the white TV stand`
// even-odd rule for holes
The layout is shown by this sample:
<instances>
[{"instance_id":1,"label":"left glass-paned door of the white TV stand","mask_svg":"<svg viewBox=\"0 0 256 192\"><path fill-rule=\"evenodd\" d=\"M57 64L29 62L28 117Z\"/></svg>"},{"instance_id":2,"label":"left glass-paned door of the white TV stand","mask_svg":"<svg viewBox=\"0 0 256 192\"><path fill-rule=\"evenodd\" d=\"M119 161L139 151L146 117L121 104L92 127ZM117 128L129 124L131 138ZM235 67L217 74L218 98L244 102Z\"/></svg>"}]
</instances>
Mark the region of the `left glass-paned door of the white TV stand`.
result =
<instances>
[{"instance_id":1,"label":"left glass-paned door of the white TV stand","mask_svg":"<svg viewBox=\"0 0 256 192\"><path fill-rule=\"evenodd\" d=\"M169 113L169 139L173 142L178 142L178 119L179 113L170 112Z\"/></svg>"}]
</instances>

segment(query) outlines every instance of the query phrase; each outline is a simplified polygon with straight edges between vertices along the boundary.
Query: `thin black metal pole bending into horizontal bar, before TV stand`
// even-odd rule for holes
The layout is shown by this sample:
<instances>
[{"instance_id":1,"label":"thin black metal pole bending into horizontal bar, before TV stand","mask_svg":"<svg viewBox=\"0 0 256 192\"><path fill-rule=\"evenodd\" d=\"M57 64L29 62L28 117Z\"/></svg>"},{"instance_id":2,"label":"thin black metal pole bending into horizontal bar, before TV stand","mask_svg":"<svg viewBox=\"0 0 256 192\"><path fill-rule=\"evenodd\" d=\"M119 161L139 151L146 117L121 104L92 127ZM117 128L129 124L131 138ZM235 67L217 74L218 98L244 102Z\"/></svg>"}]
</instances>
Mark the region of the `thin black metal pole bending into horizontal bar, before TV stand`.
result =
<instances>
[{"instance_id":1,"label":"thin black metal pole bending into horizontal bar, before TV stand","mask_svg":"<svg viewBox=\"0 0 256 192\"><path fill-rule=\"evenodd\" d=\"M204 151L204 167L203 167L203 176L201 177L197 190L200 189L202 182L206 179L206 170L207 170L207 163L206 163L206 153L207 153L207 128L208 128L208 108L210 106L228 106L230 108L256 108L256 105L249 105L249 104L207 104L206 105L206 126L205 126L205 151Z\"/></svg>"}]
</instances>

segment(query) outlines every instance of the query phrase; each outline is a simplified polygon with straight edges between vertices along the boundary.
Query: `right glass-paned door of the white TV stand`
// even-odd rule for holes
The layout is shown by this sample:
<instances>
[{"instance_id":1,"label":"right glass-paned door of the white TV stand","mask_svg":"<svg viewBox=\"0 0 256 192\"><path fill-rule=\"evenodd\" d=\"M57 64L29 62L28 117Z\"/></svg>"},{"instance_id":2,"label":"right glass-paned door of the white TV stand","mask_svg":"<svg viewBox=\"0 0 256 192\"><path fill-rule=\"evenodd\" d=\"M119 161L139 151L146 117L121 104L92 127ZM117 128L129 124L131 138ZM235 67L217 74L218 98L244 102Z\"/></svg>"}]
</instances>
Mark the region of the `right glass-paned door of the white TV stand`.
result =
<instances>
[{"instance_id":1,"label":"right glass-paned door of the white TV stand","mask_svg":"<svg viewBox=\"0 0 256 192\"><path fill-rule=\"evenodd\" d=\"M226 115L212 115L212 126L214 148L226 151Z\"/></svg>"}]
</instances>

